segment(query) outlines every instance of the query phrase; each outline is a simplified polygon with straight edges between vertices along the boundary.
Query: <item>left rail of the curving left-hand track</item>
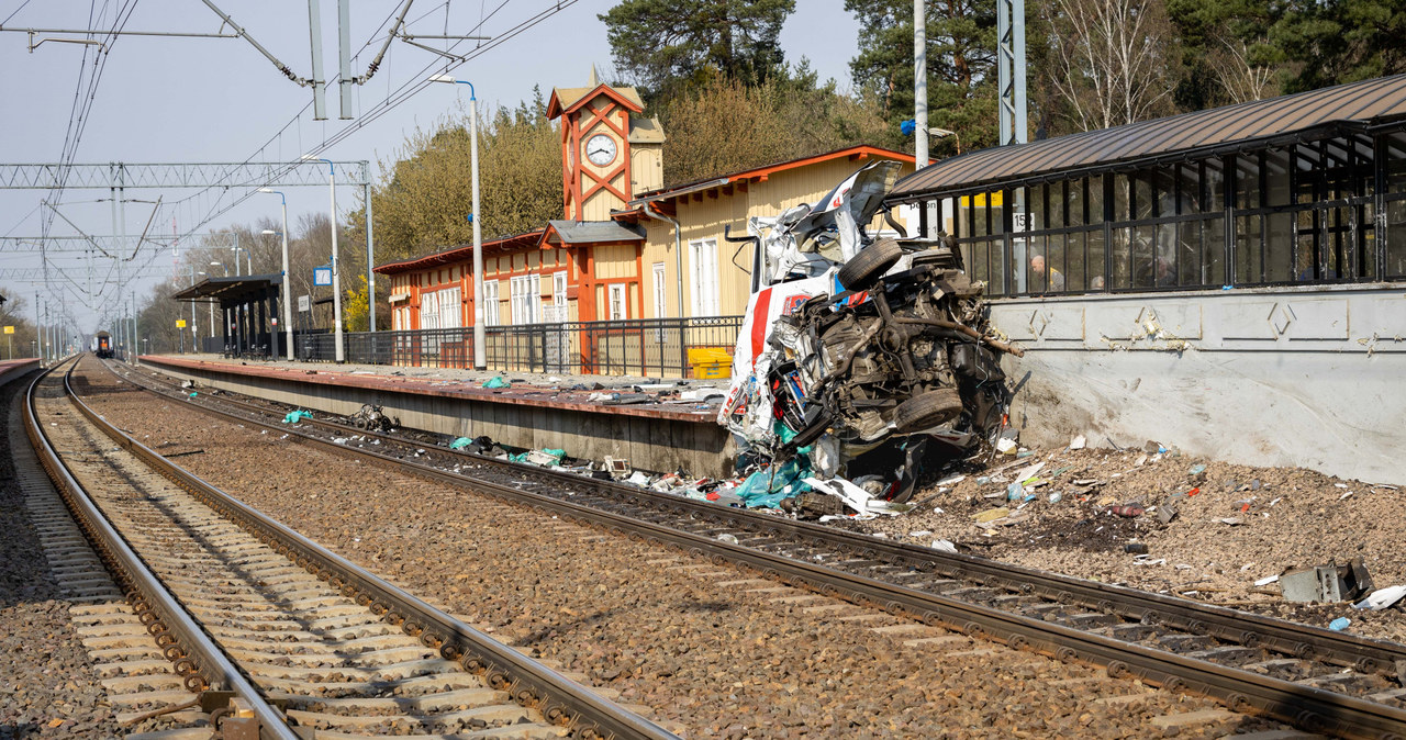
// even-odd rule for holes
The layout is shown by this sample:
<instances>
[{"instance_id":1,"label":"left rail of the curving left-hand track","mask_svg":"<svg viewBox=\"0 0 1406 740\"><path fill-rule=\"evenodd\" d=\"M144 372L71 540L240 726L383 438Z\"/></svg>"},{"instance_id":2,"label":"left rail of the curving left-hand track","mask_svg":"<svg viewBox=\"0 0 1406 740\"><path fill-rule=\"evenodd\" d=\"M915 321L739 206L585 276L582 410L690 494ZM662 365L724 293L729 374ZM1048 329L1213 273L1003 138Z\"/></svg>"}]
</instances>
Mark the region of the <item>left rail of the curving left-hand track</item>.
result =
<instances>
[{"instance_id":1,"label":"left rail of the curving left-hand track","mask_svg":"<svg viewBox=\"0 0 1406 740\"><path fill-rule=\"evenodd\" d=\"M63 378L63 388L70 397L73 397L73 393L69 388L69 375L76 365L77 362L75 361ZM83 486L73 477L58 451L53 449L48 435L44 434L44 427L38 421L35 392L39 383L56 369L59 368L55 366L39 374L25 390L25 432L30 437L30 444L38 454L39 463L48 472L49 479L53 480L65 503L67 503L79 527L87 534L98 556L117 576L124 590L127 590L128 604L142 615L146 632L162 647L163 657L174 664L176 673L183 677L184 687L188 691L201 694L208 688L231 691L253 709L254 716L259 719L262 737L269 740L298 740L298 734L288 727L288 720L283 712L264 701L209 635L186 612L180 601L166 590L160 579L146 567L142 557L132 550L127 539L108 522Z\"/></svg>"}]
</instances>

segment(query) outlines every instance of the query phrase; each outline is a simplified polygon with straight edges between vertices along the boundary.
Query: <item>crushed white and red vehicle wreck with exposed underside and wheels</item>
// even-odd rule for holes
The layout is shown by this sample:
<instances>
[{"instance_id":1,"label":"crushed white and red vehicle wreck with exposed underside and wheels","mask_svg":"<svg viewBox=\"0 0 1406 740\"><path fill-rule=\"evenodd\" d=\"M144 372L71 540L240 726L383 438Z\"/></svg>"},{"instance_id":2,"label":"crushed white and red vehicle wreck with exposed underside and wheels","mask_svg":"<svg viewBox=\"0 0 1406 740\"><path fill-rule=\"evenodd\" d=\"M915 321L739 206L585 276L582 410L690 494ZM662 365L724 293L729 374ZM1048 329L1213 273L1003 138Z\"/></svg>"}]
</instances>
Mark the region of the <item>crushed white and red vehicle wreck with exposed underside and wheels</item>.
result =
<instances>
[{"instance_id":1,"label":"crushed white and red vehicle wreck with exposed underside and wheels","mask_svg":"<svg viewBox=\"0 0 1406 740\"><path fill-rule=\"evenodd\" d=\"M990 454L1010 390L1002 341L945 236L908 239L883 206L898 164L877 161L820 205L752 218L752 295L718 424L740 472L797 465L904 501L921 461ZM883 211L897 237L866 225ZM787 479L796 479L793 472ZM810 486L790 486L799 494ZM856 508L856 507L852 507ZM858 508L856 508L858 510Z\"/></svg>"}]
</instances>

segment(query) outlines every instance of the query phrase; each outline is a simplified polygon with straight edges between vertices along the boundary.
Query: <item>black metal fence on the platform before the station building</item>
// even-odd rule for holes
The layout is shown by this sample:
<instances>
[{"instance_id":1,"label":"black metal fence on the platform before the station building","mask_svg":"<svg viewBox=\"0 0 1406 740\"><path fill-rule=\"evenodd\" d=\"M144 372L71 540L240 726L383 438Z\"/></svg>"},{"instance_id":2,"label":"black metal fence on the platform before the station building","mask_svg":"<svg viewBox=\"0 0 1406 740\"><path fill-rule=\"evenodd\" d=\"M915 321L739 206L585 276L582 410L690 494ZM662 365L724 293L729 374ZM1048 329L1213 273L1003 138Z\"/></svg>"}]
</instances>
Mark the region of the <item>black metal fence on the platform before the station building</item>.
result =
<instances>
[{"instance_id":1,"label":"black metal fence on the platform before the station building","mask_svg":"<svg viewBox=\"0 0 1406 740\"><path fill-rule=\"evenodd\" d=\"M561 322L485 329L488 369L561 375L718 378L731 365L741 316ZM472 368L474 329L356 331L346 361L368 365ZM298 334L298 359L332 362L332 334Z\"/></svg>"}]
</instances>

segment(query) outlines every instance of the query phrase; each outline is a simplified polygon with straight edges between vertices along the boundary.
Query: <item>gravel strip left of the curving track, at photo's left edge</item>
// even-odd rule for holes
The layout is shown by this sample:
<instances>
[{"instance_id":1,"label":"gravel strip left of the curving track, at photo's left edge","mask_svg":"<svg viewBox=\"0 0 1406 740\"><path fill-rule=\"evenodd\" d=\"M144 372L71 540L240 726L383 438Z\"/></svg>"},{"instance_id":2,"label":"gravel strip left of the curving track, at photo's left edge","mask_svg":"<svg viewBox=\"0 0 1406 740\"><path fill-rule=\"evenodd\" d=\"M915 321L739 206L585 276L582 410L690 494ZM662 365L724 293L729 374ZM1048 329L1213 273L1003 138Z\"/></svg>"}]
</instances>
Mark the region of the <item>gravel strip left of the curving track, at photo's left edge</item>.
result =
<instances>
[{"instance_id":1,"label":"gravel strip left of the curving track, at photo's left edge","mask_svg":"<svg viewBox=\"0 0 1406 740\"><path fill-rule=\"evenodd\" d=\"M18 432L22 396L0 388L0 418ZM39 548L0 434L0 739L120 737L107 691Z\"/></svg>"}]
</instances>

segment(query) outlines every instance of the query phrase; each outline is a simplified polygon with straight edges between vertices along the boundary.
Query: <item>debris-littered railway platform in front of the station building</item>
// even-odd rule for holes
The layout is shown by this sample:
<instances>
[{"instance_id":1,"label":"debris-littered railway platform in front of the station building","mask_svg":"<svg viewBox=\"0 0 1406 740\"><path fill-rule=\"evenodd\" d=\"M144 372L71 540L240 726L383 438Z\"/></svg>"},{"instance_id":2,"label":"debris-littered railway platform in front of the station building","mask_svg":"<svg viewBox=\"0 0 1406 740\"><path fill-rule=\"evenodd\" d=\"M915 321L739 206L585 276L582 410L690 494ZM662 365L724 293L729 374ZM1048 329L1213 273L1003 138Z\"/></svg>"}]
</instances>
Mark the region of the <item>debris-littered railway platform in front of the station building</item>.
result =
<instances>
[{"instance_id":1,"label":"debris-littered railway platform in front of the station building","mask_svg":"<svg viewBox=\"0 0 1406 740\"><path fill-rule=\"evenodd\" d=\"M645 470L682 468L724 477L734 458L727 432L714 421L725 379L256 362L209 354L142 355L139 361L197 386L336 414L373 403L412 428L488 435L512 447L565 449L586 459L621 458ZM485 388L495 376L510 385Z\"/></svg>"}]
</instances>

